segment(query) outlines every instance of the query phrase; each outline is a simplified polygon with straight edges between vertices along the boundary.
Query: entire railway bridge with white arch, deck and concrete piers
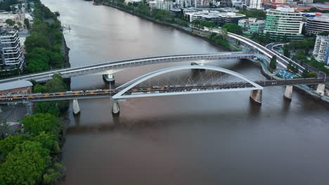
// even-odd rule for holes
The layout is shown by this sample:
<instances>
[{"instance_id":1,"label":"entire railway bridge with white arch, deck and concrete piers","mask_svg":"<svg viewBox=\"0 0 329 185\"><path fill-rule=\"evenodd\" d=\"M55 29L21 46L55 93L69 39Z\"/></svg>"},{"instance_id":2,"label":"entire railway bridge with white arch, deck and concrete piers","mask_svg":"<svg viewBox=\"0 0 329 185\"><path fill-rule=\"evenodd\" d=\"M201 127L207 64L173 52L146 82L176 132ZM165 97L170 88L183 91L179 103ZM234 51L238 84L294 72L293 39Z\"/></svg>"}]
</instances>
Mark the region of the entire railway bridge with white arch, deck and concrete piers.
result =
<instances>
[{"instance_id":1,"label":"entire railway bridge with white arch, deck and concrete piers","mask_svg":"<svg viewBox=\"0 0 329 185\"><path fill-rule=\"evenodd\" d=\"M195 84L157 84L157 85L144 85L146 81L155 78L162 74L168 74L174 71L181 71L186 69L193 70L208 70L216 71L227 76L235 77L235 81L224 81L221 76L219 81L215 83L202 83ZM215 78L215 77L212 77ZM226 78L228 79L228 78ZM212 79L211 79L212 80ZM200 79L198 80L200 81ZM286 80L271 80L271 81L253 81L235 71L224 69L221 67L212 67L204 65L187 65L178 67L169 67L167 69L160 69L158 71L150 72L140 76L132 81L129 81L120 87L108 90L77 90L56 93L34 93L34 94L20 94L20 95L2 95L0 96L0 104L10 102L23 102L29 109L29 114L32 114L32 102L39 101L53 101L53 100L73 100L73 112L79 113L79 99L112 97L112 113L119 114L119 102L127 98L134 97L155 97L163 95L188 95L188 94L201 94L201 93L222 93L234 92L241 90L250 90L250 100L257 104L262 104L262 90L268 86L286 86L284 97L287 100L292 99L292 85L304 84L318 84L316 92L323 95L324 85L328 83L327 78L295 78ZM139 85L139 86L138 86Z\"/></svg>"}]
</instances>

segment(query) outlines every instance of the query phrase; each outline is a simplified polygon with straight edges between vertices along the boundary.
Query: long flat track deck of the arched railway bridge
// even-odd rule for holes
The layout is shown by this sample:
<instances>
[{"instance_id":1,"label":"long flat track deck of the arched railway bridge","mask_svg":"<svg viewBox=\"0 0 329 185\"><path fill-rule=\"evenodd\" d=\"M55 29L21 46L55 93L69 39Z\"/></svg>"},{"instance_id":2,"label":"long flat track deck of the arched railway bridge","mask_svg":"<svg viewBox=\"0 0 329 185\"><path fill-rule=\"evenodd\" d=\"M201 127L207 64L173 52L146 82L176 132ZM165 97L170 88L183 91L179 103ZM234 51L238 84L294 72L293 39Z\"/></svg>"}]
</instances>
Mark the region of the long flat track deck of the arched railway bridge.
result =
<instances>
[{"instance_id":1,"label":"long flat track deck of the arched railway bridge","mask_svg":"<svg viewBox=\"0 0 329 185\"><path fill-rule=\"evenodd\" d=\"M255 83L262 87L267 86L282 86L282 85L300 85L300 84L319 84L328 83L329 78L296 78L289 80L273 80L273 81L255 81ZM247 82L236 82L236 83L220 83L220 84L205 84L205 85L172 85L165 87L145 87L145 88L133 88L128 90L124 95L142 95L142 94L153 94L162 95L164 93L181 93L191 94L200 93L207 91L217 92L219 90L227 91L232 89L246 90L253 86ZM68 91L63 93L34 93L34 94L23 94L23 95L0 95L0 104L8 102L39 102L39 101L53 101L53 100L74 100L74 99L89 99L89 98L100 98L100 97L112 97L116 93L119 93L122 89L109 89L109 90L79 90L79 91Z\"/></svg>"}]
</instances>

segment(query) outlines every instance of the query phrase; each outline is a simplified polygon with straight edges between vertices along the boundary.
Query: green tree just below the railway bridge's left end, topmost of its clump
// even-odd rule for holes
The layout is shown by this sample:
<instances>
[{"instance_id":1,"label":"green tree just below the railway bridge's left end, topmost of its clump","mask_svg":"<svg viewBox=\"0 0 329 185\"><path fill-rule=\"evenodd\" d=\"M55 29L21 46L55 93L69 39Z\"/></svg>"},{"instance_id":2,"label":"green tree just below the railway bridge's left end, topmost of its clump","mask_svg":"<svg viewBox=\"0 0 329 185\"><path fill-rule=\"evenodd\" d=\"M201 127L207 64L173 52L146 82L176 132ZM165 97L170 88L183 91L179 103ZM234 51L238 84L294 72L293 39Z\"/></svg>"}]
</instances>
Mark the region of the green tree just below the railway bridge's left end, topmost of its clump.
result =
<instances>
[{"instance_id":1,"label":"green tree just below the railway bridge's left end, topmost of its clump","mask_svg":"<svg viewBox=\"0 0 329 185\"><path fill-rule=\"evenodd\" d=\"M52 114L34 114L22 120L25 132L30 132L31 135L39 135L40 132L46 132L53 135L58 135L61 125L60 120Z\"/></svg>"}]
</instances>

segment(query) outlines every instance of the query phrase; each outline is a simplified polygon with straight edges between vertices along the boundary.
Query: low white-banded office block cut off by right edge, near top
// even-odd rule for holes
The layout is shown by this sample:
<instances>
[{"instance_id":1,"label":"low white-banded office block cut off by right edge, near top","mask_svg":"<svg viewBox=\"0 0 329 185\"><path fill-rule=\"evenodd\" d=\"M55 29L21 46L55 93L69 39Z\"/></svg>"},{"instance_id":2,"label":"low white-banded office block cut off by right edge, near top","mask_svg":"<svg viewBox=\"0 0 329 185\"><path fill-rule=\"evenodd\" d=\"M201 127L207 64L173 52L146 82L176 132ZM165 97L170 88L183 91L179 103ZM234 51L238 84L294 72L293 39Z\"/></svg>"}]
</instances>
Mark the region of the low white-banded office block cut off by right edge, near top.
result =
<instances>
[{"instance_id":1,"label":"low white-banded office block cut off by right edge, near top","mask_svg":"<svg viewBox=\"0 0 329 185\"><path fill-rule=\"evenodd\" d=\"M321 32L329 32L329 17L325 15L307 18L305 26L306 34L320 34Z\"/></svg>"}]
</instances>

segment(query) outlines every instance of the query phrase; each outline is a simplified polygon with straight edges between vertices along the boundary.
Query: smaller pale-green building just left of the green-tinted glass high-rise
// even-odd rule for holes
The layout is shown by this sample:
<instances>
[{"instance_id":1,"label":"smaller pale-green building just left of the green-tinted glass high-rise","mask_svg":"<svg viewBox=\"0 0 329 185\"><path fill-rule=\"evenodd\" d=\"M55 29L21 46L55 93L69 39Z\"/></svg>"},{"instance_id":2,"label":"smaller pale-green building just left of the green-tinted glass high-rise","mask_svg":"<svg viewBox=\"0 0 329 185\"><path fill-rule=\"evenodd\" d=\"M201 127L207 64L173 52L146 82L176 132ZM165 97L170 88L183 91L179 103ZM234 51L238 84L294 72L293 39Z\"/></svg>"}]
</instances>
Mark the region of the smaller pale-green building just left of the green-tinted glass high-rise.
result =
<instances>
[{"instance_id":1,"label":"smaller pale-green building just left of the green-tinted glass high-rise","mask_svg":"<svg viewBox=\"0 0 329 185\"><path fill-rule=\"evenodd\" d=\"M244 34L262 33L265 21L257 20L257 18L242 19L239 20L238 25L242 27Z\"/></svg>"}]
</instances>

